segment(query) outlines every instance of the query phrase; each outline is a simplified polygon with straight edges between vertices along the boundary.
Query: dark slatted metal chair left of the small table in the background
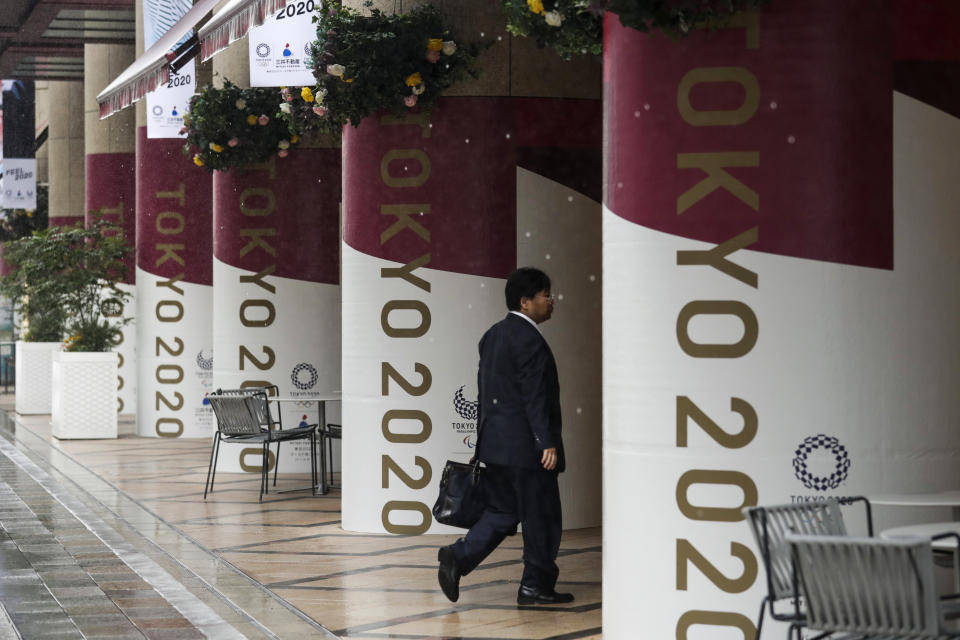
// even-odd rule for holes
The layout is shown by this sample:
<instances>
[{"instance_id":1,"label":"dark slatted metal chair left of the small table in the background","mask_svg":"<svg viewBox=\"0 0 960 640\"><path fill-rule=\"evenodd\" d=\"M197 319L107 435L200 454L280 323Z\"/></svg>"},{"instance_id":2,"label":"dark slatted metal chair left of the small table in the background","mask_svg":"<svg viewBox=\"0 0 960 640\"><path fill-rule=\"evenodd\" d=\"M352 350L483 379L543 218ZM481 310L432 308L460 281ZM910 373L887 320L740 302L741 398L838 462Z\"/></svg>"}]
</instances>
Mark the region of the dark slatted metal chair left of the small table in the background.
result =
<instances>
[{"instance_id":1,"label":"dark slatted metal chair left of the small table in the background","mask_svg":"<svg viewBox=\"0 0 960 640\"><path fill-rule=\"evenodd\" d=\"M260 468L260 500L263 494L269 493L269 452L270 445L292 440L310 440L310 480L311 490L316 495L317 459L316 437L317 425L310 424L295 429L272 429L270 406L267 394L262 389L245 390L238 393L234 390L222 392L218 390L208 396L210 406L217 417L217 432L214 435L213 446L210 451L210 465L207 468L207 483L204 486L203 497L213 491L214 479L217 473L217 458L220 452L220 441L260 443L263 447L263 460ZM266 426L264 426L266 424ZM279 459L274 465L274 486L276 486L276 469Z\"/></svg>"}]
</instances>

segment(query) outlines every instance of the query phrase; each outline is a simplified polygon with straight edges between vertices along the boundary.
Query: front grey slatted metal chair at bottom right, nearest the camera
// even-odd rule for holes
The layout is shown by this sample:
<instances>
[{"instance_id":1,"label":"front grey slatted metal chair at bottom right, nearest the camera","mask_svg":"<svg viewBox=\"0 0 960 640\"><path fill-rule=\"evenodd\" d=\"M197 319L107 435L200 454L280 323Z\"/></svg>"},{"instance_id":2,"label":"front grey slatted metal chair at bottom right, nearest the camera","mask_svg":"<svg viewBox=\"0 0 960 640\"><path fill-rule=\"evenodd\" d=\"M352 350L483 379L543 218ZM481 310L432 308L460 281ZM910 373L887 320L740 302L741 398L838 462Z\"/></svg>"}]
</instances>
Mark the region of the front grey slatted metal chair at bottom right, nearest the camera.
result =
<instances>
[{"instance_id":1,"label":"front grey slatted metal chair at bottom right, nearest the camera","mask_svg":"<svg viewBox=\"0 0 960 640\"><path fill-rule=\"evenodd\" d=\"M934 536L953 537L955 533ZM960 597L938 598L930 538L787 536L793 583L806 603L806 626L837 638L940 640L960 638L947 620L960 615ZM787 638L799 623L790 626Z\"/></svg>"}]
</instances>

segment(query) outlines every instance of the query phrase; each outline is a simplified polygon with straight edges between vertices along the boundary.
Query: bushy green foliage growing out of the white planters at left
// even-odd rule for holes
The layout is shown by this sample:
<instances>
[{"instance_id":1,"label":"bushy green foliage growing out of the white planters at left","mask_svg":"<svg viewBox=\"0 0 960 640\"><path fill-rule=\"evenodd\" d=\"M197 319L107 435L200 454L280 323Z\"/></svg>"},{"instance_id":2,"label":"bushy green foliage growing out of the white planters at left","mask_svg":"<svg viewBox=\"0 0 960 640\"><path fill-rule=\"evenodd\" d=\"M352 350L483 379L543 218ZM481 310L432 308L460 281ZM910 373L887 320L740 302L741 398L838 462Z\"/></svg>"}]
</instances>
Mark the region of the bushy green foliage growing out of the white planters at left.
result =
<instances>
[{"instance_id":1,"label":"bushy green foliage growing out of the white planters at left","mask_svg":"<svg viewBox=\"0 0 960 640\"><path fill-rule=\"evenodd\" d=\"M29 325L28 341L65 342L71 351L107 351L116 344L129 293L117 285L130 247L116 225L51 227L6 244L13 271L0 278Z\"/></svg>"}]
</instances>

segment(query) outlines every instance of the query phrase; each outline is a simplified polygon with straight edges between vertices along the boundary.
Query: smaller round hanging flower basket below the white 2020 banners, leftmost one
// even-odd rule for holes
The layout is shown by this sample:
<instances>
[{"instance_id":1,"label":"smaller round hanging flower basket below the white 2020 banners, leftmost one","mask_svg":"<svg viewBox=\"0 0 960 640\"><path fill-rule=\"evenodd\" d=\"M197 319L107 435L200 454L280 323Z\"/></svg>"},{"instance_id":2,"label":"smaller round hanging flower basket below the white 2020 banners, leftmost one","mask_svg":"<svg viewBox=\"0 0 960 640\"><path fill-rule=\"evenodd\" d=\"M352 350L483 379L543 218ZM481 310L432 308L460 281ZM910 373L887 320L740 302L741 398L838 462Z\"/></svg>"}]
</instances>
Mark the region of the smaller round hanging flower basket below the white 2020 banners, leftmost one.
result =
<instances>
[{"instance_id":1,"label":"smaller round hanging flower basket below the white 2020 banners, leftmost one","mask_svg":"<svg viewBox=\"0 0 960 640\"><path fill-rule=\"evenodd\" d=\"M286 156L297 139L277 117L281 104L275 88L242 89L229 80L223 88L207 85L190 99L184 117L183 151L208 171L226 171Z\"/></svg>"}]
</instances>

